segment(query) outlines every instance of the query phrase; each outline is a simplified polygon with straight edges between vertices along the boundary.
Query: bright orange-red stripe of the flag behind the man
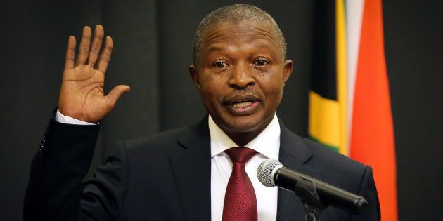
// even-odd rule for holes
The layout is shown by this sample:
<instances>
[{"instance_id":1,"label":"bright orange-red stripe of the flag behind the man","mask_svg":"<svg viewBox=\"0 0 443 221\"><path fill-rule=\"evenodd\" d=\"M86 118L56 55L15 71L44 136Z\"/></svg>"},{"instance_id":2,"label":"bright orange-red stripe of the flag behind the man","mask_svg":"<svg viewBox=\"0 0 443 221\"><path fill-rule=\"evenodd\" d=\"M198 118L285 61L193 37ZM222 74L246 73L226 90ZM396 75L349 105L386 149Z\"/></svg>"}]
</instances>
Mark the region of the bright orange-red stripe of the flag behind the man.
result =
<instances>
[{"instance_id":1,"label":"bright orange-red stripe of the flag behind the man","mask_svg":"<svg viewBox=\"0 0 443 221\"><path fill-rule=\"evenodd\" d=\"M351 157L373 168L382 220L397 220L394 129L381 0L364 3L351 130Z\"/></svg>"}]
</instances>

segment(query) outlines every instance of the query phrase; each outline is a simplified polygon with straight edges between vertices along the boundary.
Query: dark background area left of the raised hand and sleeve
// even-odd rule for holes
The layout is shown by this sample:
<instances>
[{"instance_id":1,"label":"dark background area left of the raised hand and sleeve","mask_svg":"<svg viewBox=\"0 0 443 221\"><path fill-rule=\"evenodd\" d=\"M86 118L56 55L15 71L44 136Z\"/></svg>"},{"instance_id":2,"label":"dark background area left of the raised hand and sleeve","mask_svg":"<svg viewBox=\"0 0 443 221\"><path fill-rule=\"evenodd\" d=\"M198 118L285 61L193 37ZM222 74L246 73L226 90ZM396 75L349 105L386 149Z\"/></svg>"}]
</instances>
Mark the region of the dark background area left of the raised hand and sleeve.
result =
<instances>
[{"instance_id":1,"label":"dark background area left of the raised hand and sleeve","mask_svg":"<svg viewBox=\"0 0 443 221\"><path fill-rule=\"evenodd\" d=\"M58 103L68 36L100 22L100 6L0 3L0 220L21 220L30 161Z\"/></svg>"}]
</instances>

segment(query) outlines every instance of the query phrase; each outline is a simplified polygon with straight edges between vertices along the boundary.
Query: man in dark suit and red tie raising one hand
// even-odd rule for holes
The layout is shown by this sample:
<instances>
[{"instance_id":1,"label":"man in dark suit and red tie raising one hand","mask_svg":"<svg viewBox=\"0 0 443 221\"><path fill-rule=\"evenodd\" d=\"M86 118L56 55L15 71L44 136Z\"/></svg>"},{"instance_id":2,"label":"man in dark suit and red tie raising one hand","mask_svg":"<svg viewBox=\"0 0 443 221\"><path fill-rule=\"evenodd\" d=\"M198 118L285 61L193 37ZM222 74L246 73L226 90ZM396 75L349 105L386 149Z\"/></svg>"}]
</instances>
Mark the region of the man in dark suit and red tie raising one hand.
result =
<instances>
[{"instance_id":1,"label":"man in dark suit and red tie raising one hand","mask_svg":"<svg viewBox=\"0 0 443 221\"><path fill-rule=\"evenodd\" d=\"M100 52L103 27L96 26L91 36L85 27L76 60L75 38L68 40L59 109L32 161L25 220L304 219L293 192L258 182L255 170L264 159L279 159L368 200L361 215L327 208L322 220L380 220L371 167L298 137L278 120L276 108L293 62L285 58L285 39L274 19L244 4L210 13L195 35L189 72L207 116L195 126L120 142L94 179L82 184L98 122L129 91L129 86L116 86L103 94L113 41L106 37ZM255 214L243 218L224 210L243 201L236 195L226 203L238 163L231 149L254 153L242 173L252 187L253 204L248 205ZM233 210L244 215L241 207Z\"/></svg>"}]
</instances>

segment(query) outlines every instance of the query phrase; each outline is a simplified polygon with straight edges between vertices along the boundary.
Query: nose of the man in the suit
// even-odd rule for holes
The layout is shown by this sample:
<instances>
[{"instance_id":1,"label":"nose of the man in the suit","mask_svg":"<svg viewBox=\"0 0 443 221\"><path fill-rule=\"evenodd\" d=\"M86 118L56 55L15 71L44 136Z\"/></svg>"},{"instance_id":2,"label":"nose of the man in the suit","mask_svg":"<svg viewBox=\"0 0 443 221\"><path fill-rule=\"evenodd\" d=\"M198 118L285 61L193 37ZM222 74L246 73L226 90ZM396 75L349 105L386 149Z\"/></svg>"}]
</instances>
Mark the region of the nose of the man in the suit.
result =
<instances>
[{"instance_id":1,"label":"nose of the man in the suit","mask_svg":"<svg viewBox=\"0 0 443 221\"><path fill-rule=\"evenodd\" d=\"M229 78L229 86L238 90L248 88L255 85L255 79L252 76L252 70L249 65L238 64L231 72Z\"/></svg>"}]
</instances>

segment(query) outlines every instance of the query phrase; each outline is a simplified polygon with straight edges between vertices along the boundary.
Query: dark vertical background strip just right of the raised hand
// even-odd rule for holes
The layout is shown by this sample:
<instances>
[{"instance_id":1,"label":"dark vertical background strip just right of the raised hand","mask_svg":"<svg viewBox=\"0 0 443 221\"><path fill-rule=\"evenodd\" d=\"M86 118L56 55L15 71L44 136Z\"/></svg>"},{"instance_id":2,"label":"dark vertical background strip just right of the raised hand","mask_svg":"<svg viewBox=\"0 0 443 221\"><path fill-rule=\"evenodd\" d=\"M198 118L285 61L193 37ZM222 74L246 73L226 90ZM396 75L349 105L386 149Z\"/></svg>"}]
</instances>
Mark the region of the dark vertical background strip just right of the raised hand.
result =
<instances>
[{"instance_id":1,"label":"dark vertical background strip just right of the raised hand","mask_svg":"<svg viewBox=\"0 0 443 221\"><path fill-rule=\"evenodd\" d=\"M117 108L103 119L101 161L117 140L149 135L159 128L158 11L155 0L103 1L103 25L113 37L105 91L127 84Z\"/></svg>"}]
</instances>

